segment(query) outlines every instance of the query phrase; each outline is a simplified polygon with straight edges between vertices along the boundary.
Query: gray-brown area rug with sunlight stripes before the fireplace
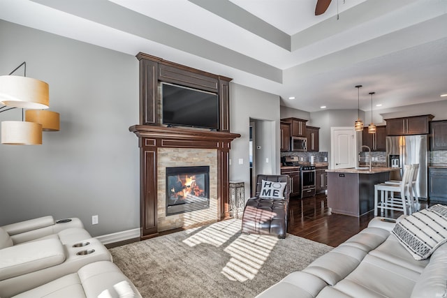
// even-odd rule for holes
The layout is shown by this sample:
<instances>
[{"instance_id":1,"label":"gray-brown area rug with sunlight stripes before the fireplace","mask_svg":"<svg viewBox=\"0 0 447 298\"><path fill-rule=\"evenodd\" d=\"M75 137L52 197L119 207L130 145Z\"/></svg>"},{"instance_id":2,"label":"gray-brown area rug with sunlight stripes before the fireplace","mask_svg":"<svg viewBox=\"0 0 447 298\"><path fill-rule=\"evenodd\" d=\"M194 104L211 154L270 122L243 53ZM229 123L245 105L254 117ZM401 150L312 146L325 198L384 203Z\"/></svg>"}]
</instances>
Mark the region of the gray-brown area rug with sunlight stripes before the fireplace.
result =
<instances>
[{"instance_id":1,"label":"gray-brown area rug with sunlight stripes before the fireplace","mask_svg":"<svg viewBox=\"0 0 447 298\"><path fill-rule=\"evenodd\" d=\"M331 246L241 234L230 219L110 249L142 297L255 297Z\"/></svg>"}]
</instances>

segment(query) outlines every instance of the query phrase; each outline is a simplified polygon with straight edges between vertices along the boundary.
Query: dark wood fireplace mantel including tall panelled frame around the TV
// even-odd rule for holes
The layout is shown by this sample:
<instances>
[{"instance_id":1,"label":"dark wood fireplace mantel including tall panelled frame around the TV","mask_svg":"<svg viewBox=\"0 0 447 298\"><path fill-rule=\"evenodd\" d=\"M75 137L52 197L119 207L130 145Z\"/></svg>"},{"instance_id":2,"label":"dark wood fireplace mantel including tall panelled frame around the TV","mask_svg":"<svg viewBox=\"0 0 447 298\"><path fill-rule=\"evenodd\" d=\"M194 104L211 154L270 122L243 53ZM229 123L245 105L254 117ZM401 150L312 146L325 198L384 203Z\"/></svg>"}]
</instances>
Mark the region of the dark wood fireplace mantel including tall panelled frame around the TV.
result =
<instances>
[{"instance_id":1,"label":"dark wood fireplace mantel including tall panelled frame around the TV","mask_svg":"<svg viewBox=\"0 0 447 298\"><path fill-rule=\"evenodd\" d=\"M138 53L140 61L140 124L129 128L138 136L140 147L140 228L141 239L154 237L157 228L157 156L159 148L193 148L217 150L217 200L221 218L229 214L230 143L237 133L230 133L230 78L182 66L170 61ZM219 130L163 126L160 82L212 91L219 95Z\"/></svg>"}]
</instances>

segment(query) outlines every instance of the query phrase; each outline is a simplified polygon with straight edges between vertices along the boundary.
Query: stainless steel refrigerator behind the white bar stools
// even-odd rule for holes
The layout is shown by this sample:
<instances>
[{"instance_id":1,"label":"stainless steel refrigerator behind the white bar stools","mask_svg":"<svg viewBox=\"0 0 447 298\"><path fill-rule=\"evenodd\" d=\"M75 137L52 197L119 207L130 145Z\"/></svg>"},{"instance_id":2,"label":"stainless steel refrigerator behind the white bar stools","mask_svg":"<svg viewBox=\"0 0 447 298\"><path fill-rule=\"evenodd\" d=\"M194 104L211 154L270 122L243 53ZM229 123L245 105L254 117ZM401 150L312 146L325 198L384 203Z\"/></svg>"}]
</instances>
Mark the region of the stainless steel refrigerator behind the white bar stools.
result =
<instances>
[{"instance_id":1,"label":"stainless steel refrigerator behind the white bar stools","mask_svg":"<svg viewBox=\"0 0 447 298\"><path fill-rule=\"evenodd\" d=\"M386 137L386 158L388 167L400 167L390 174L390 179L402 180L404 165L419 164L416 191L419 198L427 198L427 135L402 135Z\"/></svg>"}]
</instances>

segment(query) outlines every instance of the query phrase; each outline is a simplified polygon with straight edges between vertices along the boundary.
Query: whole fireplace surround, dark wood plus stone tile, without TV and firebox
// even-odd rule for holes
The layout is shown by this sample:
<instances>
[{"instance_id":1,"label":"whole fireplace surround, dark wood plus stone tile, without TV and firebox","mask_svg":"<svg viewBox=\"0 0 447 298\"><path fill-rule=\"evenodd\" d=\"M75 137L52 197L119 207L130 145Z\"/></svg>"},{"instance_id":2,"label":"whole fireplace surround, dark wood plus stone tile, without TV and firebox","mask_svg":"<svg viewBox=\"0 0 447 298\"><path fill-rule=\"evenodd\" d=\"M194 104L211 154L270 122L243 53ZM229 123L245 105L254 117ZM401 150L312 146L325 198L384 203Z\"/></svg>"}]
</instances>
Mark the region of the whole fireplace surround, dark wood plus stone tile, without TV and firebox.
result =
<instances>
[{"instance_id":1,"label":"whole fireplace surround, dark wood plus stone tile, without TV and firebox","mask_svg":"<svg viewBox=\"0 0 447 298\"><path fill-rule=\"evenodd\" d=\"M230 142L230 78L139 53L140 124L129 131L140 147L140 239L159 232L228 218ZM161 82L214 92L219 96L217 131L168 127L161 119ZM210 207L166 216L166 167L210 167Z\"/></svg>"}]
</instances>

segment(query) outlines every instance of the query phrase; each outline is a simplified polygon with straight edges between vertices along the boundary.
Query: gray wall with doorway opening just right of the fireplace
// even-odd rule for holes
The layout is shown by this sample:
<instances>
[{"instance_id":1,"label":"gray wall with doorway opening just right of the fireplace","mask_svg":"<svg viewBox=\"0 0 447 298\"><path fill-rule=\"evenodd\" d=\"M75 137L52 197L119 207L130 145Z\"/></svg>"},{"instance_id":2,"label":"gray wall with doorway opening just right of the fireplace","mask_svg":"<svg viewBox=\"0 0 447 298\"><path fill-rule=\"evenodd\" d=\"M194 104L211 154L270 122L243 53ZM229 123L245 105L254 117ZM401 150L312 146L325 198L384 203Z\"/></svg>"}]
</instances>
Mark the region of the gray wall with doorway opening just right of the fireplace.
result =
<instances>
[{"instance_id":1,"label":"gray wall with doorway opening just right of the fireplace","mask_svg":"<svg viewBox=\"0 0 447 298\"><path fill-rule=\"evenodd\" d=\"M258 136L256 144L261 145L261 150L256 150L256 156L260 160L256 167L258 172L279 174L279 96L232 83L230 128L232 133L240 133L241 137L231 142L230 180L244 182L246 200L250 196L249 126L251 120L256 120L256 136ZM244 161L242 165L238 163L240 158ZM269 163L265 163L265 158L269 158Z\"/></svg>"}]
</instances>

